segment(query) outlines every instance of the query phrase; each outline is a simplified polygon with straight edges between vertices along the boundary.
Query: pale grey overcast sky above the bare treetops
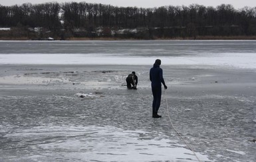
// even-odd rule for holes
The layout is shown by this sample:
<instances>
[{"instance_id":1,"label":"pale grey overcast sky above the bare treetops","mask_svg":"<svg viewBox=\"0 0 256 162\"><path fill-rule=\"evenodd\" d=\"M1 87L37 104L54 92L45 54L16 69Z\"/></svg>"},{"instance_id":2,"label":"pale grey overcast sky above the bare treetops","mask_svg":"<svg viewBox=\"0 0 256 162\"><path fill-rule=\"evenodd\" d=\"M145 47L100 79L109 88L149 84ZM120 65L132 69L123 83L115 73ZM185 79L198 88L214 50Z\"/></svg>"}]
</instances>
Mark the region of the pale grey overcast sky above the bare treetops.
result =
<instances>
[{"instance_id":1,"label":"pale grey overcast sky above the bare treetops","mask_svg":"<svg viewBox=\"0 0 256 162\"><path fill-rule=\"evenodd\" d=\"M0 0L1 5L21 5L23 3L46 3L46 2L81 2L86 3L102 3L104 5L114 5L118 7L160 7L165 5L185 5L191 4L204 5L205 7L217 7L221 4L230 4L235 9L241 9L245 6L256 7L256 0Z\"/></svg>"}]
</instances>

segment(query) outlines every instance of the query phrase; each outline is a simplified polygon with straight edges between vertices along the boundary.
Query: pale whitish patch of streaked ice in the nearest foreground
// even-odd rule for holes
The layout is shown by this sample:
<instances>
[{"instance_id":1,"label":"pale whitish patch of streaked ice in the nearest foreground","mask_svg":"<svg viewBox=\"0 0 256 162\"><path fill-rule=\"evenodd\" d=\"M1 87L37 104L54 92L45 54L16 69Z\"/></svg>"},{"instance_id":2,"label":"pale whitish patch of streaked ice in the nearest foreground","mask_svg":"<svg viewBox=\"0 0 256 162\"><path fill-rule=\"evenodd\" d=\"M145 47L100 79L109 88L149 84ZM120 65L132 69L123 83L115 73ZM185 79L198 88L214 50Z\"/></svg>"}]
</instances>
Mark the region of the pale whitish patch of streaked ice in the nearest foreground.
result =
<instances>
[{"instance_id":1,"label":"pale whitish patch of streaked ice in the nearest foreground","mask_svg":"<svg viewBox=\"0 0 256 162\"><path fill-rule=\"evenodd\" d=\"M15 147L23 151L22 156L7 153L4 157L17 161L197 161L184 145L161 134L155 139L147 134L110 126L34 127L6 134L5 138L19 143L5 151ZM197 156L209 161L205 155Z\"/></svg>"}]
</instances>

